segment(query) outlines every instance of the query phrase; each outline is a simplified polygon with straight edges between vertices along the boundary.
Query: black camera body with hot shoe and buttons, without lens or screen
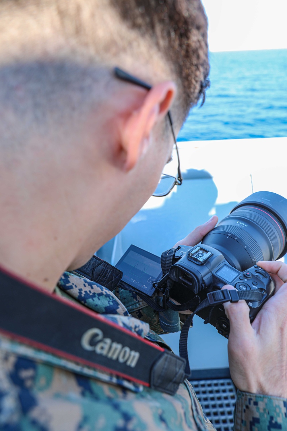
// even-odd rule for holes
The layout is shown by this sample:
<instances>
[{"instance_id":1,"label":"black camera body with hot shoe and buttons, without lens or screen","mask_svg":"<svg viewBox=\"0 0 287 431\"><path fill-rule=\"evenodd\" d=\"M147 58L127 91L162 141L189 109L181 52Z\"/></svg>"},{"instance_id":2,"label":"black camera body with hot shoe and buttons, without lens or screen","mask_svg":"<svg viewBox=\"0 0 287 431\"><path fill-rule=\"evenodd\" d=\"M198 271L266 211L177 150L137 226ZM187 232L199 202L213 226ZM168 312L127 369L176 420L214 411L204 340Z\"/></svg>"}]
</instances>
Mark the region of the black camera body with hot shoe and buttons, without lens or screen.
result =
<instances>
[{"instance_id":1,"label":"black camera body with hot shoe and buttons, without lens or screen","mask_svg":"<svg viewBox=\"0 0 287 431\"><path fill-rule=\"evenodd\" d=\"M250 308L250 322L253 322L262 305L274 294L275 283L264 269L253 265L245 271L238 271L227 262L222 253L205 244L179 247L174 261L169 277L176 284L170 295L180 303L196 295L204 300L210 292L221 289L225 284L231 284L241 291L257 290L263 294L262 300L246 301ZM198 315L207 319L209 313L210 308L206 308L198 312ZM229 320L222 304L215 305L209 322L219 334L228 338Z\"/></svg>"}]
</instances>

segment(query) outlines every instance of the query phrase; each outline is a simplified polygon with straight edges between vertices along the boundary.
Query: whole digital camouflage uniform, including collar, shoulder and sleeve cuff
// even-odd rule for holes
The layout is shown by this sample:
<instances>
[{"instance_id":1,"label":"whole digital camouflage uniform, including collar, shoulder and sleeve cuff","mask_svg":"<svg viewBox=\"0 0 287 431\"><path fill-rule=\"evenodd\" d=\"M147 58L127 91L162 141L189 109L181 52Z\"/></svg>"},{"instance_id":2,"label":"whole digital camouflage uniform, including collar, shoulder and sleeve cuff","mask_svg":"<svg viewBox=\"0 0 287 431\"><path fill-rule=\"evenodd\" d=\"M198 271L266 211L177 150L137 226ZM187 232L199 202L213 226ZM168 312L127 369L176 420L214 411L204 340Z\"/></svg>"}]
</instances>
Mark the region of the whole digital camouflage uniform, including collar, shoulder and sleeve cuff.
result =
<instances>
[{"instance_id":1,"label":"whole digital camouflage uniform, including collar, shoulder and sleeve cuff","mask_svg":"<svg viewBox=\"0 0 287 431\"><path fill-rule=\"evenodd\" d=\"M160 330L157 314L135 294L70 273L55 294L168 348L149 328ZM214 430L188 381L171 396L3 336L0 364L0 430ZM235 430L275 429L287 430L287 400L238 391Z\"/></svg>"}]
</instances>

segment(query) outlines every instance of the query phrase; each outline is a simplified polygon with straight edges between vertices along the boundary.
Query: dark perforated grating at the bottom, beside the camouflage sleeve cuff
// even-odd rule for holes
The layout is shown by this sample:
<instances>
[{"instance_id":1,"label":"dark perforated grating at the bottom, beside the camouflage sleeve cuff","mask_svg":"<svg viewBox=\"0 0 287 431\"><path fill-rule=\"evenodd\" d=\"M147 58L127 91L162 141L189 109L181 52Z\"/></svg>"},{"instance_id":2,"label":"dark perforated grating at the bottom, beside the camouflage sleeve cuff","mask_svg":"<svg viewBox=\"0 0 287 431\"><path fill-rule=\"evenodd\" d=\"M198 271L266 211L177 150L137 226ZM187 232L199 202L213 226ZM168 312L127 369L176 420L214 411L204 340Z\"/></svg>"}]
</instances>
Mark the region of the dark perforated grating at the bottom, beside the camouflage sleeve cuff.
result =
<instances>
[{"instance_id":1,"label":"dark perforated grating at the bottom, beside the camouflage sleeve cuff","mask_svg":"<svg viewBox=\"0 0 287 431\"><path fill-rule=\"evenodd\" d=\"M216 431L233 430L236 389L230 378L191 380L204 414Z\"/></svg>"}]
</instances>

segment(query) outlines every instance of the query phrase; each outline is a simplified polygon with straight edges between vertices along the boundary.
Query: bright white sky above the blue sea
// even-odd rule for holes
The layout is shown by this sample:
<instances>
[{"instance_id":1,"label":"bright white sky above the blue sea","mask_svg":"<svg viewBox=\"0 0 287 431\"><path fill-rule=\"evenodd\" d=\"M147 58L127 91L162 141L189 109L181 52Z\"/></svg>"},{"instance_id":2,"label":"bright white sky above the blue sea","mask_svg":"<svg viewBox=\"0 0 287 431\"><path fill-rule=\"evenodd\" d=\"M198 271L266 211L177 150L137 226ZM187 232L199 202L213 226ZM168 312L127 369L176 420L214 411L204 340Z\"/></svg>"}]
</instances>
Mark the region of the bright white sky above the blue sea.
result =
<instances>
[{"instance_id":1,"label":"bright white sky above the blue sea","mask_svg":"<svg viewBox=\"0 0 287 431\"><path fill-rule=\"evenodd\" d=\"M286 0L202 0L210 51L287 48Z\"/></svg>"}]
</instances>

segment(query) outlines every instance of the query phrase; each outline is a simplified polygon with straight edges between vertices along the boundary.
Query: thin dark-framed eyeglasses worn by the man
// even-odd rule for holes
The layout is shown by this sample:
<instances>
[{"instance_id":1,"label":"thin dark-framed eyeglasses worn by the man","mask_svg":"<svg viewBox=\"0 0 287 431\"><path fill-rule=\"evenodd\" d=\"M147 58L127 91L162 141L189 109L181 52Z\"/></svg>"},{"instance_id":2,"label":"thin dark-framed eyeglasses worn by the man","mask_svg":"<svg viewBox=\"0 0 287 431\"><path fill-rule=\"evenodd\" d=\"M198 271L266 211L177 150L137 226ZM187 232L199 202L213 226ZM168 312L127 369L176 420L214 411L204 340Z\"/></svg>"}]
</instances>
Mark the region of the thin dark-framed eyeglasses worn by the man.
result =
<instances>
[{"instance_id":1,"label":"thin dark-framed eyeglasses worn by the man","mask_svg":"<svg viewBox=\"0 0 287 431\"><path fill-rule=\"evenodd\" d=\"M114 74L116 78L121 79L122 81L130 82L130 84L139 85L139 87L145 88L146 90L151 90L151 85L147 84L144 81L141 81L138 78L130 75L127 72L119 69L118 67L114 68ZM176 156L178 160L178 168L177 168L177 178L173 175L161 174L160 181L157 184L157 188L152 196L167 196L172 190L174 186L180 186L182 184L182 173L180 170L180 162L179 162L179 150L176 144L176 135L173 130L173 121L171 118L170 111L167 112L167 118L170 123L171 133L173 134Z\"/></svg>"}]
</instances>

